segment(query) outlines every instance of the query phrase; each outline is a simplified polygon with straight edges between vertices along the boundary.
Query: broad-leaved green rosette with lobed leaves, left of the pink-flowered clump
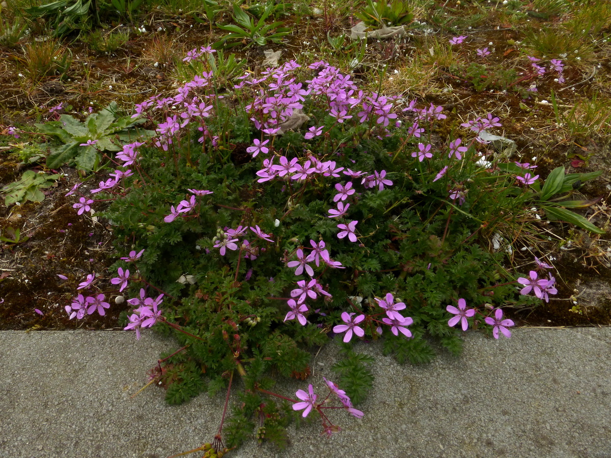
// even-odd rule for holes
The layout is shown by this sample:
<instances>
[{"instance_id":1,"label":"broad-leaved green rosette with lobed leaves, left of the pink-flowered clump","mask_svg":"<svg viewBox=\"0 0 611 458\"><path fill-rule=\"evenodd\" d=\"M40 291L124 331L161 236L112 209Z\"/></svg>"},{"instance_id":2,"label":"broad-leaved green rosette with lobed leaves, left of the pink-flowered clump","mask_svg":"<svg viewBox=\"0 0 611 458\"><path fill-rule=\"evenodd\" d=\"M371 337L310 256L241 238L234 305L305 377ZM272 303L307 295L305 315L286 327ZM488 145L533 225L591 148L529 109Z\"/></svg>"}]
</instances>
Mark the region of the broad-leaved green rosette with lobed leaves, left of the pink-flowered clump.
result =
<instances>
[{"instance_id":1,"label":"broad-leaved green rosette with lobed leaves, left of the pink-flowered clump","mask_svg":"<svg viewBox=\"0 0 611 458\"><path fill-rule=\"evenodd\" d=\"M111 102L99 113L90 114L84 122L62 114L58 121L35 124L38 131L59 142L48 146L46 166L57 169L64 164L76 165L81 170L95 170L100 164L103 151L121 151L122 145L134 141L140 134L130 131L144 122L129 116L117 115L117 103ZM141 134L152 136L151 131ZM88 140L97 140L93 146L84 146ZM45 145L40 145L43 149Z\"/></svg>"}]
</instances>

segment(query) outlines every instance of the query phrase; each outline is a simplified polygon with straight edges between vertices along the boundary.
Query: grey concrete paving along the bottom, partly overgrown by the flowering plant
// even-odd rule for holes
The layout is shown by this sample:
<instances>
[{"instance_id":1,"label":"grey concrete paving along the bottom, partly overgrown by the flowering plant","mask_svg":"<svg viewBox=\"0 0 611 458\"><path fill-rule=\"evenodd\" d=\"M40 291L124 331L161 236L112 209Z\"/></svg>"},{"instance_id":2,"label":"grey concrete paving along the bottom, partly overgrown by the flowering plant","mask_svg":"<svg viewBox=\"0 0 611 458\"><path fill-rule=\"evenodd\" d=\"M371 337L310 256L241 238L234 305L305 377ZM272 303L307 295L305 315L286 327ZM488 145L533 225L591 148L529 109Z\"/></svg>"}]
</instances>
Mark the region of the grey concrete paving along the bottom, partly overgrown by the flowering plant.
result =
<instances>
[{"instance_id":1,"label":"grey concrete paving along the bottom, partly overgrown by the flowering plant","mask_svg":"<svg viewBox=\"0 0 611 458\"><path fill-rule=\"evenodd\" d=\"M398 365L379 344L375 388L342 432L291 427L284 453L254 441L228 457L611 457L611 329L516 329L510 340L466 337L460 358ZM168 406L146 372L172 341L152 332L0 332L1 458L163 458L210 442L224 396ZM280 383L294 397L334 380L325 347L307 382ZM326 394L325 394L326 395ZM312 414L310 414L312 415ZM194 453L188 457L201 457Z\"/></svg>"}]
</instances>

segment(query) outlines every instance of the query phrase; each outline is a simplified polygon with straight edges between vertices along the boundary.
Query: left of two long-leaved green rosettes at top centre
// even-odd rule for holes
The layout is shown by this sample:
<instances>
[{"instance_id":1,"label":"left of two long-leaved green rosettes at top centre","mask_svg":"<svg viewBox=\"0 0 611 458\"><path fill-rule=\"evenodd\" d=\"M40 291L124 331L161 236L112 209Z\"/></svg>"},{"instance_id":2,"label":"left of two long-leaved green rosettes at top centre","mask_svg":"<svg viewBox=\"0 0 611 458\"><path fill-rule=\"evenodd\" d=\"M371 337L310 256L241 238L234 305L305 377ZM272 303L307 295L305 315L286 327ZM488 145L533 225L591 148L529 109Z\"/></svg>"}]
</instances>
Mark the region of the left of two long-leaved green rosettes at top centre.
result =
<instances>
[{"instance_id":1,"label":"left of two long-leaved green rosettes at top centre","mask_svg":"<svg viewBox=\"0 0 611 458\"><path fill-rule=\"evenodd\" d=\"M261 17L257 23L255 23L252 16L244 12L240 6L234 4L233 20L240 25L236 26L235 24L227 24L226 26L223 26L221 24L217 24L219 29L229 31L231 33L225 35L221 38L221 40L214 43L214 48L222 45L229 47L240 44L246 46L253 44L265 46L268 40L274 43L279 43L280 40L282 40L282 37L291 33L291 29L280 27L282 26L282 22L280 21L276 21L271 24L265 23L269 15L273 13L275 7L276 5L274 5L273 2L268 2L265 10L263 10L261 13Z\"/></svg>"}]
</instances>

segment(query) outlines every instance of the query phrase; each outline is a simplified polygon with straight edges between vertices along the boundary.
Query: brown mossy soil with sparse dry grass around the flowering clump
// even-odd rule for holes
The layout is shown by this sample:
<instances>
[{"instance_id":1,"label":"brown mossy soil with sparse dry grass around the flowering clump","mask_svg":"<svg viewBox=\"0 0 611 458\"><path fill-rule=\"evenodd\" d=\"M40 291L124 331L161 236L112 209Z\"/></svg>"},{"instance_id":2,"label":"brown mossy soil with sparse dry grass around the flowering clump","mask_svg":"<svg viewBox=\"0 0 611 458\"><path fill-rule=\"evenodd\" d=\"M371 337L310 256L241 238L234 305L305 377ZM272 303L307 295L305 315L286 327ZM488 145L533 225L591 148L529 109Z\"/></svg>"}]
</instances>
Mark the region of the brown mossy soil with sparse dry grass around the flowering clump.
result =
<instances>
[{"instance_id":1,"label":"brown mossy soil with sparse dry grass around the flowering clump","mask_svg":"<svg viewBox=\"0 0 611 458\"><path fill-rule=\"evenodd\" d=\"M468 8L461 10L461 17L469 16ZM491 18L494 19L494 15ZM524 67L524 62L518 63L519 52L512 43L524 39L527 23L512 26L505 23L503 17L497 20L498 23L474 23L466 31L469 44L457 47L454 52L460 59L474 59L472 55L476 48L494 42L496 45L494 48L491 46L494 52L488 56L489 63L507 68ZM534 25L553 27L557 20L557 17L547 21L538 20ZM221 13L219 22L223 21L229 21L227 13L225 16ZM293 34L284 43L265 49L282 51L280 62L303 56L309 56L310 62L320 58L329 59L329 53L340 54L341 57L342 53L348 53L347 47L331 51L327 45L327 32L331 36L349 34L351 23L349 16L335 17L332 13L326 18L320 15L305 16L299 21L291 16L285 19L285 25L293 27ZM112 26L118 27L119 24ZM529 24L529 27L532 26ZM142 34L136 31L135 26L123 27L128 33L128 41L107 54L93 51L91 45L75 37L72 37L72 41L65 40L62 46L71 49L72 62L61 78L24 77L23 50L18 46L0 49L0 130L4 129L4 133L7 133L6 129L15 125L26 131L32 130L29 126L33 123L53 118L54 114L49 112L49 108L60 103L64 103L64 112L81 120L88 114L89 107L98 110L112 100L130 110L134 103L176 87L175 62L181 59L186 50L208 45L221 36L219 29L210 32L208 24L161 13L150 15L145 28L152 32ZM551 75L538 80L538 92L530 100L524 100L512 90L477 92L467 78L452 73L449 68L440 68L438 62L426 56L426 52L419 54L419 59L424 62L423 71L433 76L427 81L428 85L414 84L414 89L406 91L400 82L401 71L414 64L415 55L422 49L429 49L430 40L435 35L440 42L447 42L447 37L452 36L444 32L443 27L436 27L434 32L434 35L430 35L430 32L414 29L409 39L400 42L370 43L359 65L351 67L349 60L346 60L341 67L346 73L351 73L355 81L367 83L371 82L368 80L373 78L371 75L381 74L381 64L388 64L386 75L397 75L397 78L388 77L383 82L384 92L401 93L406 99L417 98L424 104L442 105L446 111L458 113L464 120L472 118L474 114L493 112L503 122L503 135L514 139L518 146L518 152L510 159L533 162L531 158L538 156L537 173L543 177L558 165L564 165L574 173L603 170L599 178L585 183L577 192L585 198L602 197L600 202L584 209L581 214L609 230L611 209L606 205L611 195L609 139L567 136L552 122L555 119L552 104L543 101L551 100L552 89L558 97L562 96L565 107L574 106L595 92L611 96L609 87L601 84L601 79L596 76L611 73L611 45L607 43L606 47L601 47L597 59L589 64L568 64L565 87L558 86ZM33 24L32 35L25 40L31 40L34 35L43 35L42 24ZM251 70L261 68L265 59L263 48L241 46L226 51L229 52L247 59L247 66ZM565 110L563 107L561 109ZM447 135L453 128L455 125L442 124L438 134ZM31 140L27 135L23 137ZM3 138L0 140L0 186L15 181L26 169L16 159L13 146L24 139ZM493 151L490 153L494 154ZM34 169L42 170L43 167L37 165ZM91 272L96 272L98 282L108 282L107 268L114 263L116 256L112 226L97 220L95 214L79 216L72 206L78 198L65 196L79 180L76 171L64 167L58 172L65 173L65 176L54 187L45 189L43 202L0 207L2 234L7 228L19 228L22 235L29 237L20 243L2 242L2 330L113 329L119 327L119 313L128 310L125 302L115 304L115 298L119 296L117 292L111 296L112 306L105 316L96 313L80 321L68 319L64 308L78 294L79 282ZM105 177L100 173L91 177L90 183L98 183L102 178ZM506 313L521 325L610 325L609 233L594 236L558 222L541 222L541 231L549 234L549 243L536 247L536 250L545 253L548 259L554 259L558 294L551 298L549 304L541 304L533 310L507 310ZM527 272L527 265L532 262L531 249L516 241L511 263L525 266L522 271ZM59 275L67 277L67 280L62 280Z\"/></svg>"}]
</instances>

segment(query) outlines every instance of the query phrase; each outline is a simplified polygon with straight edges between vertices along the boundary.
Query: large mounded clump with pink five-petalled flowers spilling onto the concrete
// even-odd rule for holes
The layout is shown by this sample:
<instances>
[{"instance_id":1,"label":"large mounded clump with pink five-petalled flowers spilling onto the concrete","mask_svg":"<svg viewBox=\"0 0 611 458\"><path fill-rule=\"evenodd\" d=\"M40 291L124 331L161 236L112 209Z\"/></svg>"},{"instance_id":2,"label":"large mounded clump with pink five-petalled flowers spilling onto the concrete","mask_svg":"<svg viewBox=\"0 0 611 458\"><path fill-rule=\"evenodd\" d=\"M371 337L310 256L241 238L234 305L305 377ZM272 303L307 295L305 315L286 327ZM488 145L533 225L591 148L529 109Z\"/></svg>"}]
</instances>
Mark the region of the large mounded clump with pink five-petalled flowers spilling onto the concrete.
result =
<instances>
[{"instance_id":1,"label":"large mounded clump with pink five-petalled flowers spilling onto the concrete","mask_svg":"<svg viewBox=\"0 0 611 458\"><path fill-rule=\"evenodd\" d=\"M401 363L428 362L430 339L461 352L456 325L509 337L502 307L557 293L549 264L535 258L520 277L510 247L488 242L499 232L514 245L536 238L533 195L549 200L573 177L558 186L554 173L533 191L528 164L516 175L482 157L473 133L499 118L464 123L470 138L433 140L443 107L414 100L401 110L322 61L246 73L227 100L213 53L189 53L204 71L177 95L137 105L155 137L124 145L120 170L91 191L112 200L102 216L124 256L110 285L89 274L66 307L80 319L104 314L107 295L128 296L125 329L174 335L177 350L150 373L170 404L241 377L232 418L225 424L226 402L219 433L198 450L225 453L253 436L282 447L285 426L310 413L334 434L329 412L362 417L354 405L373 383L355 339L381 339ZM73 207L90 211L92 197ZM307 379L308 349L331 340L343 349L329 396L312 384L297 399L271 391L273 373Z\"/></svg>"}]
</instances>

